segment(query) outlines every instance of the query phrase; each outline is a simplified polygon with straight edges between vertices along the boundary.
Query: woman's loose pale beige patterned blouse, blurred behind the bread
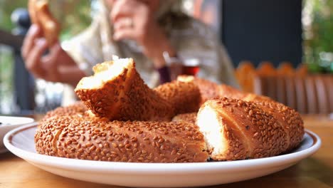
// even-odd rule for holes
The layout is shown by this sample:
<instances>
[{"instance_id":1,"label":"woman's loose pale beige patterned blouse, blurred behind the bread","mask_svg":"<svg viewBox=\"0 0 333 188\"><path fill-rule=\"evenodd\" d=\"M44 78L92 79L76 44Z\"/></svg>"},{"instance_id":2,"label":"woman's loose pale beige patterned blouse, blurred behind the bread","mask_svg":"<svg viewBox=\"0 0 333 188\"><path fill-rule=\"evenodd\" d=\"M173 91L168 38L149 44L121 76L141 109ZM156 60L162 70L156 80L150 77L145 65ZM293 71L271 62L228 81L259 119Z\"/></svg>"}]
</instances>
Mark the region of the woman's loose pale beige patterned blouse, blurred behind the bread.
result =
<instances>
[{"instance_id":1,"label":"woman's loose pale beige patterned blouse, blurred behind the bread","mask_svg":"<svg viewBox=\"0 0 333 188\"><path fill-rule=\"evenodd\" d=\"M199 77L238 88L231 60L216 33L204 23L171 9L170 2L173 1L161 2L157 21L175 48L177 56L184 61L199 61ZM92 67L96 63L112 60L112 55L133 58L145 83L151 88L157 86L159 73L154 69L152 61L144 56L142 47L135 41L113 41L112 23L108 16L110 11L103 1L100 1L100 5L90 27L68 41L65 51L87 75L93 73Z\"/></svg>"}]
</instances>

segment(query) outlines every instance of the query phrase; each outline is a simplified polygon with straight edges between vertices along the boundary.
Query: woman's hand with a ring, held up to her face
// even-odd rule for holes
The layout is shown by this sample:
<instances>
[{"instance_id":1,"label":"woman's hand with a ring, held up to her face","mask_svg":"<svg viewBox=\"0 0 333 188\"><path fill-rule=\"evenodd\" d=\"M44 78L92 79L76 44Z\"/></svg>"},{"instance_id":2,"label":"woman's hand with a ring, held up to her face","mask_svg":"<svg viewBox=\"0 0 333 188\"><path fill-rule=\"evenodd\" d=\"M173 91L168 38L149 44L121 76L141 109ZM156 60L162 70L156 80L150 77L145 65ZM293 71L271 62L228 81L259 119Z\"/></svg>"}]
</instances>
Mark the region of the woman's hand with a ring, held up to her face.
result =
<instances>
[{"instance_id":1,"label":"woman's hand with a ring, held up to her face","mask_svg":"<svg viewBox=\"0 0 333 188\"><path fill-rule=\"evenodd\" d=\"M110 19L114 24L116 41L132 39L144 47L144 55L151 58L156 68L165 66L162 53L175 54L169 40L155 19L159 1L114 0Z\"/></svg>"}]
</instances>

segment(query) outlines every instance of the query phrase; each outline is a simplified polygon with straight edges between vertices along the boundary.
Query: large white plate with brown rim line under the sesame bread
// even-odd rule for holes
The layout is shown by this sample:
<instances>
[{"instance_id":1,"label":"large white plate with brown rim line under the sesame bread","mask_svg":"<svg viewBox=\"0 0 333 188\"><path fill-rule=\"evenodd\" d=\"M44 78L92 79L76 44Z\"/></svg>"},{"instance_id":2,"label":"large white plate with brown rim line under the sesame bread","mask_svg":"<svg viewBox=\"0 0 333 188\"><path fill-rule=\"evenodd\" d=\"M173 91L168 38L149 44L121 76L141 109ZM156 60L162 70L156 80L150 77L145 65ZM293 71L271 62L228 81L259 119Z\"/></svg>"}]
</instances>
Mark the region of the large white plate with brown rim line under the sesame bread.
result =
<instances>
[{"instance_id":1,"label":"large white plate with brown rim line under the sesame bread","mask_svg":"<svg viewBox=\"0 0 333 188\"><path fill-rule=\"evenodd\" d=\"M296 164L316 152L321 140L309 130L296 150L256 160L202 163L100 162L50 157L36 153L36 125L18 127L4 138L6 147L36 167L63 177L129 187L194 187L261 177Z\"/></svg>"}]
</instances>

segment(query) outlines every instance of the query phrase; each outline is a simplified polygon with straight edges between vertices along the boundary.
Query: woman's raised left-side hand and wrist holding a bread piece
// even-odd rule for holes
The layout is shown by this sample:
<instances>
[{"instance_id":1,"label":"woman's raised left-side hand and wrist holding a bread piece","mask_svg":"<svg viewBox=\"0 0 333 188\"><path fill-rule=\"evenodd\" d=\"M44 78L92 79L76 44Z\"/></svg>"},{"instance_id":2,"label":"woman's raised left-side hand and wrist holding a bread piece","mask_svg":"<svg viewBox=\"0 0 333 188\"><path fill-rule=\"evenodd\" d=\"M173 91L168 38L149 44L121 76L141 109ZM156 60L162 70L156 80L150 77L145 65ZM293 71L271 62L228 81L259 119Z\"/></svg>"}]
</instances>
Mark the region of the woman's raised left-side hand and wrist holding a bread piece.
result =
<instances>
[{"instance_id":1,"label":"woman's raised left-side hand and wrist holding a bread piece","mask_svg":"<svg viewBox=\"0 0 333 188\"><path fill-rule=\"evenodd\" d=\"M47 49L49 53L44 55ZM24 38L21 55L28 71L37 78L76 85L85 76L59 42L48 48L46 39L41 37L41 28L35 24Z\"/></svg>"}]
</instances>

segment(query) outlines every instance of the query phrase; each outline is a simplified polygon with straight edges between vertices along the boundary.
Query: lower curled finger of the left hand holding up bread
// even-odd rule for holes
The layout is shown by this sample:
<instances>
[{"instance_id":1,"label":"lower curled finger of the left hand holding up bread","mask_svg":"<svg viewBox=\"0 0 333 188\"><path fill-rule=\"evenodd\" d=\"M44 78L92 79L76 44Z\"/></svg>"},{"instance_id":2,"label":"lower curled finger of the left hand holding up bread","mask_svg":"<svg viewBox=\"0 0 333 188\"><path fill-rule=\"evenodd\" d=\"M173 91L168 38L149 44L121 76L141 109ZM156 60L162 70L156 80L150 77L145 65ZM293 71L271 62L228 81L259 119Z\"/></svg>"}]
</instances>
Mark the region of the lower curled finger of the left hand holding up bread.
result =
<instances>
[{"instance_id":1,"label":"lower curled finger of the left hand holding up bread","mask_svg":"<svg viewBox=\"0 0 333 188\"><path fill-rule=\"evenodd\" d=\"M41 66L41 58L43 53L48 48L46 40L39 38L35 40L33 48L26 56L26 68L37 77L42 77L44 74L43 67Z\"/></svg>"}]
</instances>

